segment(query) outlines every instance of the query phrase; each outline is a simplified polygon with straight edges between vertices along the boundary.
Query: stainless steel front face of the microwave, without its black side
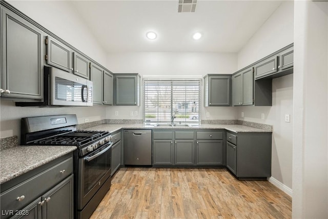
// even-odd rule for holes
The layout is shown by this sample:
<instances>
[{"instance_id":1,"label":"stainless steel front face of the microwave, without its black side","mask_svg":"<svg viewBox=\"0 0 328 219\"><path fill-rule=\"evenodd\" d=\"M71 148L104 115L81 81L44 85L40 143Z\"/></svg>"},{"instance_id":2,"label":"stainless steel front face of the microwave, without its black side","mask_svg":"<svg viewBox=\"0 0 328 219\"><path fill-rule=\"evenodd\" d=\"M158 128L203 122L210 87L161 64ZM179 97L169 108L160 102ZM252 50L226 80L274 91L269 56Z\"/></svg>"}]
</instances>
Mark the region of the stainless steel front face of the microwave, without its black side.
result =
<instances>
[{"instance_id":1,"label":"stainless steel front face of the microwave, without its black side","mask_svg":"<svg viewBox=\"0 0 328 219\"><path fill-rule=\"evenodd\" d=\"M50 105L92 106L92 82L50 68Z\"/></svg>"}]
</instances>

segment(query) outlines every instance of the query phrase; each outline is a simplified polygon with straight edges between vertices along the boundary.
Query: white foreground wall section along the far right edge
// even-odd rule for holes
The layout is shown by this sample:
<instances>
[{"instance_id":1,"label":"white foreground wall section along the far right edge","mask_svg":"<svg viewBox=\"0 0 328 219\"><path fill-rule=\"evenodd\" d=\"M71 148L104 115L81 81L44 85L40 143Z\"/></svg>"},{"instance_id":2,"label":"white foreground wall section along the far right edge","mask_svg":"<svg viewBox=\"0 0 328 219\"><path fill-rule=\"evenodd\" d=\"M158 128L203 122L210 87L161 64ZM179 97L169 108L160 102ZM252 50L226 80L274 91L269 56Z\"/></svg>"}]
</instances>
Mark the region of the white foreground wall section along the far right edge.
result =
<instances>
[{"instance_id":1,"label":"white foreground wall section along the far right edge","mask_svg":"<svg viewBox=\"0 0 328 219\"><path fill-rule=\"evenodd\" d=\"M293 218L328 218L328 2L294 11Z\"/></svg>"}]
</instances>

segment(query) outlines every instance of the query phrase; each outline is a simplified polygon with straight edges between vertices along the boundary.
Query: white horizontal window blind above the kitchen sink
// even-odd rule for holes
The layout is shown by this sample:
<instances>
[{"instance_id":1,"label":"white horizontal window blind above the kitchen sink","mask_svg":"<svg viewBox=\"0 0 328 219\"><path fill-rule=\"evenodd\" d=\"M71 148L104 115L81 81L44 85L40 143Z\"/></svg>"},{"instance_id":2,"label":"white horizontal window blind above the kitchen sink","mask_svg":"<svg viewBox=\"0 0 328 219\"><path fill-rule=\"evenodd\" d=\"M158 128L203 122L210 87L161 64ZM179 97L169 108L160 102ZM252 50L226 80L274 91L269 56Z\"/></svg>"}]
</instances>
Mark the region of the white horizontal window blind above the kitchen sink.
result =
<instances>
[{"instance_id":1,"label":"white horizontal window blind above the kitchen sink","mask_svg":"<svg viewBox=\"0 0 328 219\"><path fill-rule=\"evenodd\" d=\"M199 122L200 79L144 79L145 122Z\"/></svg>"}]
</instances>

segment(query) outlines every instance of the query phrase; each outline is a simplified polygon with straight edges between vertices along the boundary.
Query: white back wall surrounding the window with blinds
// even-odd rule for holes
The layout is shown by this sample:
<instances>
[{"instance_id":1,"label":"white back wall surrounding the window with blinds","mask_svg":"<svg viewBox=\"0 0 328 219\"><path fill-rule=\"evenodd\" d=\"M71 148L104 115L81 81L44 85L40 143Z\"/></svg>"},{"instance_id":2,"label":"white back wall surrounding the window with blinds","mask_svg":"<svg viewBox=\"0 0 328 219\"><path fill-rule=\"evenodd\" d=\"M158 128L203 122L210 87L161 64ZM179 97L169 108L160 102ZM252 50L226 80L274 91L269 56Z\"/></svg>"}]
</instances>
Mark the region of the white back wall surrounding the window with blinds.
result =
<instances>
[{"instance_id":1,"label":"white back wall surrounding the window with blinds","mask_svg":"<svg viewBox=\"0 0 328 219\"><path fill-rule=\"evenodd\" d=\"M114 73L132 73L141 75L196 75L232 74L237 70L236 53L176 53L176 52L140 52L108 54L107 65ZM141 83L142 84L142 83ZM141 89L142 97L142 89ZM203 86L201 87L203 97ZM203 98L201 98L203 99ZM203 102L201 102L203 106ZM235 120L235 108L231 107L201 107L201 120ZM118 115L115 115L118 111ZM130 116L131 111L137 111L137 116ZM210 117L206 117L206 112ZM143 102L140 107L114 106L107 108L106 116L112 119L142 120Z\"/></svg>"}]
</instances>

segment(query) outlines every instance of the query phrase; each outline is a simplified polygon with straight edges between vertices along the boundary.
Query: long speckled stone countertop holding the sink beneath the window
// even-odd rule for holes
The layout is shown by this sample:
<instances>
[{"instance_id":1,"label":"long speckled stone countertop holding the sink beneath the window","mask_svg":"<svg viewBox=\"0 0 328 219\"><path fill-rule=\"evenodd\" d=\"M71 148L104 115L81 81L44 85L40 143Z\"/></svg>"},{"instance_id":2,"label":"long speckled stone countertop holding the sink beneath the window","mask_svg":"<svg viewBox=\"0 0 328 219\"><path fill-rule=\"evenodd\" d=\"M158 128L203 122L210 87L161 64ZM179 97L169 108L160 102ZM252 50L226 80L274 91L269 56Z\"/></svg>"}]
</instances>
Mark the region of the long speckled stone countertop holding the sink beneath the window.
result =
<instances>
[{"instance_id":1,"label":"long speckled stone countertop holding the sink beneath the window","mask_svg":"<svg viewBox=\"0 0 328 219\"><path fill-rule=\"evenodd\" d=\"M239 132L272 132L271 130L265 129L257 129L249 126L243 125L224 125L224 124L201 124L193 127L154 127L151 125L145 124L103 124L99 126L94 126L91 128L87 128L85 130L101 130L101 131L109 131L115 132L120 129L226 129L228 131L232 131L235 133Z\"/></svg>"}]
</instances>

